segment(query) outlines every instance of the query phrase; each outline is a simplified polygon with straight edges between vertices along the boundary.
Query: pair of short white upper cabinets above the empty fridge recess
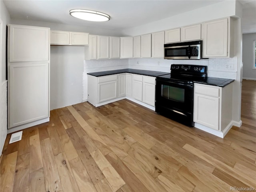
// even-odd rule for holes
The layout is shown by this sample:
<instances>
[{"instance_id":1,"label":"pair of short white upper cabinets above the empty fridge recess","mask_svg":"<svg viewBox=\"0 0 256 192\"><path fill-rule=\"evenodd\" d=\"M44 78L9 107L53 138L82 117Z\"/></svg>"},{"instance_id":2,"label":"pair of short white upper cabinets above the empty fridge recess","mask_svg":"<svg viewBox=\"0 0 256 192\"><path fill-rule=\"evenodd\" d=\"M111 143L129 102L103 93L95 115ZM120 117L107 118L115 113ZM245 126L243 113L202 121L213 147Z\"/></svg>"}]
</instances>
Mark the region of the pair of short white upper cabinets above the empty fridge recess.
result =
<instances>
[{"instance_id":1,"label":"pair of short white upper cabinets above the empty fridge recess","mask_svg":"<svg viewBox=\"0 0 256 192\"><path fill-rule=\"evenodd\" d=\"M88 33L51 30L51 45L88 45Z\"/></svg>"}]
</instances>

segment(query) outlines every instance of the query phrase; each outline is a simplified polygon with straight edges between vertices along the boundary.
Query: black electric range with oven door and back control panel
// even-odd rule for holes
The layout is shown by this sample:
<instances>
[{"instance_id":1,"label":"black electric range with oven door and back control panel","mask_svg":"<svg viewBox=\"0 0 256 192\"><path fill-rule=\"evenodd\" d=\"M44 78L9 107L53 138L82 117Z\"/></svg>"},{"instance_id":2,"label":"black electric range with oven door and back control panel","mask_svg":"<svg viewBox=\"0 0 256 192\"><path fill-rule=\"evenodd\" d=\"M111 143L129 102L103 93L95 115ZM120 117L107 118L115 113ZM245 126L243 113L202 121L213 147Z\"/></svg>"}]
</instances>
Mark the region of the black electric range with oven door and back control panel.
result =
<instances>
[{"instance_id":1,"label":"black electric range with oven door and back control panel","mask_svg":"<svg viewBox=\"0 0 256 192\"><path fill-rule=\"evenodd\" d=\"M170 74L156 77L155 111L186 126L194 126L194 81L207 80L207 66L172 64Z\"/></svg>"}]
</instances>

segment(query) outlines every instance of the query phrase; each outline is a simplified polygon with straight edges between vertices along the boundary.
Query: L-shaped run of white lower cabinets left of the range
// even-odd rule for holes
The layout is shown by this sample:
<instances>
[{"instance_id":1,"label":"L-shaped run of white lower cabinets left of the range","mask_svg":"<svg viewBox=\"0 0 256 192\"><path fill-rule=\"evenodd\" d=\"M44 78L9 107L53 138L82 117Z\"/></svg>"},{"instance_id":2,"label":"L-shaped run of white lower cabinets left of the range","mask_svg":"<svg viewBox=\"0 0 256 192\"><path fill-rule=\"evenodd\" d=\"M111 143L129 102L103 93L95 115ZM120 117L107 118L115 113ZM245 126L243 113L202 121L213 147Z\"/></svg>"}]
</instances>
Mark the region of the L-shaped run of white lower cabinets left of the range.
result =
<instances>
[{"instance_id":1,"label":"L-shaped run of white lower cabinets left of the range","mask_svg":"<svg viewBox=\"0 0 256 192\"><path fill-rule=\"evenodd\" d=\"M88 75L88 102L98 107L128 97L155 106L155 80L155 77L129 73Z\"/></svg>"}]
</instances>

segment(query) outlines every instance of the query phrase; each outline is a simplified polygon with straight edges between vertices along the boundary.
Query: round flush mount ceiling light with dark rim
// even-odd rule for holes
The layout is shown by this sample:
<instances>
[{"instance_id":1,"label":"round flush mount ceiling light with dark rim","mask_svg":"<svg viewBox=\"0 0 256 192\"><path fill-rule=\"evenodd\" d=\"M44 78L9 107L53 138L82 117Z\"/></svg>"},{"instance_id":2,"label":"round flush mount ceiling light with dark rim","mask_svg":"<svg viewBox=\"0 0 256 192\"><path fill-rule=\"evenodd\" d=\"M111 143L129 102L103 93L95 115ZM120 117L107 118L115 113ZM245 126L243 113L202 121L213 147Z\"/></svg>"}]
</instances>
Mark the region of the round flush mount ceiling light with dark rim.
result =
<instances>
[{"instance_id":1,"label":"round flush mount ceiling light with dark rim","mask_svg":"<svg viewBox=\"0 0 256 192\"><path fill-rule=\"evenodd\" d=\"M92 10L85 10L85 9L72 9L69 11L69 14L73 17L76 17L78 19L83 19L86 21L108 21L110 20L110 16L98 12L98 11L92 11Z\"/></svg>"}]
</instances>

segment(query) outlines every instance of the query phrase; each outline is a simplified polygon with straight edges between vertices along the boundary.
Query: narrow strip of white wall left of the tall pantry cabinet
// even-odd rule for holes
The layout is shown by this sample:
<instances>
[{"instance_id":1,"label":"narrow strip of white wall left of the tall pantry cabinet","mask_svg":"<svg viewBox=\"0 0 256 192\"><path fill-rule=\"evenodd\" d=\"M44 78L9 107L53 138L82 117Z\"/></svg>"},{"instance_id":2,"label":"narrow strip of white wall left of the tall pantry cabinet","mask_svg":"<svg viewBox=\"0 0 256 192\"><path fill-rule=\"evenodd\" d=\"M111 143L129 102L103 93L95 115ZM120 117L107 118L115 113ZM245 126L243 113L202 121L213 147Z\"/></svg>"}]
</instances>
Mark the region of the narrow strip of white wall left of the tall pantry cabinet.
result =
<instances>
[{"instance_id":1,"label":"narrow strip of white wall left of the tall pantry cabinet","mask_svg":"<svg viewBox=\"0 0 256 192\"><path fill-rule=\"evenodd\" d=\"M7 135L7 81L6 81L6 24L10 22L10 15L4 5L0 1L0 20L1 23L1 43L0 43L0 155L4 147Z\"/></svg>"}]
</instances>

